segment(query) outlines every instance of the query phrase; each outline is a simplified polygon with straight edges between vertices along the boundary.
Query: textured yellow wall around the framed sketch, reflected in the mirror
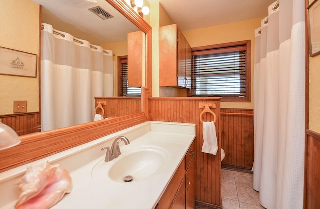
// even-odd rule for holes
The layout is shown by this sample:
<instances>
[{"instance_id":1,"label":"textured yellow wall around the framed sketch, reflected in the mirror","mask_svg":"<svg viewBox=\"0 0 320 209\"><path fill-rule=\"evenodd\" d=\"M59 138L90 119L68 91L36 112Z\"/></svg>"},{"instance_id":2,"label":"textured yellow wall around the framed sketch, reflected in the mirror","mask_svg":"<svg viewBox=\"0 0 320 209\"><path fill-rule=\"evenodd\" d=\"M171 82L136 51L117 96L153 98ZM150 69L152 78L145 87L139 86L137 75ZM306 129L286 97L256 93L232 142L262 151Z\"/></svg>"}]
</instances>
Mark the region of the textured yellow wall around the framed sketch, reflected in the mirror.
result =
<instances>
[{"instance_id":1,"label":"textured yellow wall around the framed sketch, reflected in the mirror","mask_svg":"<svg viewBox=\"0 0 320 209\"><path fill-rule=\"evenodd\" d=\"M0 0L0 46L38 55L39 12L31 0ZM28 112L39 111L36 74L36 78L0 75L0 115L13 114L14 100L27 100Z\"/></svg>"}]
</instances>

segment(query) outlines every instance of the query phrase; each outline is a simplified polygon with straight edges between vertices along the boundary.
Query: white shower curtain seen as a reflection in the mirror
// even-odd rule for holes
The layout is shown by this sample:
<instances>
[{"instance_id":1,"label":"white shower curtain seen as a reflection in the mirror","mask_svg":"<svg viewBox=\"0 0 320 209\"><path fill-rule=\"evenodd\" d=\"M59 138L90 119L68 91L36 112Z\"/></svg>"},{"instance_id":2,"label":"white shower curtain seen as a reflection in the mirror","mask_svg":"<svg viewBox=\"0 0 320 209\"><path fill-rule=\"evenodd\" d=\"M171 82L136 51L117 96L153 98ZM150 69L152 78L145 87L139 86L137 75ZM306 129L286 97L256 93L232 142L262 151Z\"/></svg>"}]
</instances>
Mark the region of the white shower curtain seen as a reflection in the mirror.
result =
<instances>
[{"instance_id":1,"label":"white shower curtain seen as a reflection in the mirror","mask_svg":"<svg viewBox=\"0 0 320 209\"><path fill-rule=\"evenodd\" d=\"M83 44L78 43L72 35L42 25L42 131L93 121L94 97L113 92L112 51L91 48L88 41L77 39ZM111 74L107 81L106 74Z\"/></svg>"}]
</instances>

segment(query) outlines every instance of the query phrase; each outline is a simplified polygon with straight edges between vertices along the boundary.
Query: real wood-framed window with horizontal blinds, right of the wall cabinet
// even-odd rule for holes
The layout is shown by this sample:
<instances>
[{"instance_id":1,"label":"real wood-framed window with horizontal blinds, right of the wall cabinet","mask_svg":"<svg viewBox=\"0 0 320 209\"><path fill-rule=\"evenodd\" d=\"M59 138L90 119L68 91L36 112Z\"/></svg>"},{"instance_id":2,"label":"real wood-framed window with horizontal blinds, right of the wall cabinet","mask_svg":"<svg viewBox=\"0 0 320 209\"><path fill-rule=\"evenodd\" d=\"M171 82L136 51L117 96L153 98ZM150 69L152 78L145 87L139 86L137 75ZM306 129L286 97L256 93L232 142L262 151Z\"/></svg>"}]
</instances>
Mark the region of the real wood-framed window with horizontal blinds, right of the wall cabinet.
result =
<instances>
[{"instance_id":1,"label":"real wood-framed window with horizontal blinds, right of the wall cabinet","mask_svg":"<svg viewBox=\"0 0 320 209\"><path fill-rule=\"evenodd\" d=\"M250 102L250 40L192 48L191 96Z\"/></svg>"}]
</instances>

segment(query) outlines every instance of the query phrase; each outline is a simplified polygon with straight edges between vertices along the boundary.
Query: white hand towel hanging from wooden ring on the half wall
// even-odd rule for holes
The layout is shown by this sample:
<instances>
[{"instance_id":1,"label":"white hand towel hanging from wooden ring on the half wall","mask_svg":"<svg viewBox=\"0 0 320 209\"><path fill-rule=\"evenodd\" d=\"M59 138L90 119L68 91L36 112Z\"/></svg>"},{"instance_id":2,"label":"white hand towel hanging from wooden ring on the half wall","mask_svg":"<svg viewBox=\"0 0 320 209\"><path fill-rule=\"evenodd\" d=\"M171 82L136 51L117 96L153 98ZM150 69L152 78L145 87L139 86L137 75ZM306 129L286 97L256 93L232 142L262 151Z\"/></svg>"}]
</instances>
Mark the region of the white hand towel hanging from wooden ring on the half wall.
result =
<instances>
[{"instance_id":1,"label":"white hand towel hanging from wooden ring on the half wall","mask_svg":"<svg viewBox=\"0 0 320 209\"><path fill-rule=\"evenodd\" d=\"M214 122L203 122L203 145L202 152L216 155L218 140L216 138Z\"/></svg>"}]
</instances>

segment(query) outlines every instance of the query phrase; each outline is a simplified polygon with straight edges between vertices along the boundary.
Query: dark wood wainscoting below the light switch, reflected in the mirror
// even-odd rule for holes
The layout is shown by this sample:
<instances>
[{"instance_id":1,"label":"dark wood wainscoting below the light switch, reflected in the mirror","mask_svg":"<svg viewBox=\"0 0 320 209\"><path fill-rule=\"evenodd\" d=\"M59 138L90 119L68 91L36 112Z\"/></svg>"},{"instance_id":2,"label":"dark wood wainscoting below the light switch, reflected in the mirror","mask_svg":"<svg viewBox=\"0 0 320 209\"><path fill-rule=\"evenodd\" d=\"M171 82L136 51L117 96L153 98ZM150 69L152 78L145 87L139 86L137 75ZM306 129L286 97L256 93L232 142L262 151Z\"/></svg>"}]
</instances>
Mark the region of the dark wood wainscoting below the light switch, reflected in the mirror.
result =
<instances>
[{"instance_id":1,"label":"dark wood wainscoting below the light switch, reflected in the mirror","mask_svg":"<svg viewBox=\"0 0 320 209\"><path fill-rule=\"evenodd\" d=\"M10 126L18 135L41 131L39 112L1 115L0 118L3 124Z\"/></svg>"}]
</instances>

